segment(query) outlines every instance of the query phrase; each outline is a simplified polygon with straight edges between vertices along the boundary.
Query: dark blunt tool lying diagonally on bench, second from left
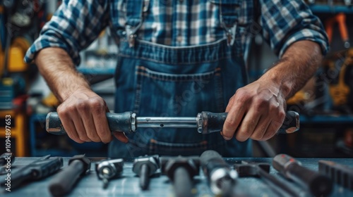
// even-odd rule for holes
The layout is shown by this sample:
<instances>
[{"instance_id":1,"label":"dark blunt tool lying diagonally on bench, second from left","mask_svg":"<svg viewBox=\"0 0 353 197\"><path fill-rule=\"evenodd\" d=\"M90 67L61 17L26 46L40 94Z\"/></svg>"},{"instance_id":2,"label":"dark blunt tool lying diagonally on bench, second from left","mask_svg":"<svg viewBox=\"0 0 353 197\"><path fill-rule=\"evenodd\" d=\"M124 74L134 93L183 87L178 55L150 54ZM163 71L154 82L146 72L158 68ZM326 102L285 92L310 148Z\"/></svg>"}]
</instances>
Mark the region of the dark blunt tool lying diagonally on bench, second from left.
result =
<instances>
[{"instance_id":1,"label":"dark blunt tool lying diagonally on bench, second from left","mask_svg":"<svg viewBox=\"0 0 353 197\"><path fill-rule=\"evenodd\" d=\"M90 159L85 155L75 155L68 160L68 167L56 174L49 182L49 191L53 196L69 193L78 178L90 171Z\"/></svg>"}]
</instances>

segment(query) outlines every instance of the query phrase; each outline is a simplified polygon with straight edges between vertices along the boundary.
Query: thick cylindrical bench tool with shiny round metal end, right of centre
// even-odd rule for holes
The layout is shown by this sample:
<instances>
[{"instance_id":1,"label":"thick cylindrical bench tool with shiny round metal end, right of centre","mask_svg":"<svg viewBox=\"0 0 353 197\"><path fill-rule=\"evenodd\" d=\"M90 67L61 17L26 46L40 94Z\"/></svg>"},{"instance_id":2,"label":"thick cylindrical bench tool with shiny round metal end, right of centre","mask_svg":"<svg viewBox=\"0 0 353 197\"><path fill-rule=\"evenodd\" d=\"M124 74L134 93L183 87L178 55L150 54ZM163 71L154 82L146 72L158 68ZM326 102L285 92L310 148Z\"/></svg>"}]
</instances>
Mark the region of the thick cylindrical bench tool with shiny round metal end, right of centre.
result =
<instances>
[{"instance_id":1,"label":"thick cylindrical bench tool with shiny round metal end, right of centre","mask_svg":"<svg viewBox=\"0 0 353 197\"><path fill-rule=\"evenodd\" d=\"M238 174L230 168L222 156L213 150L204 151L200 156L200 162L211 191L216 196L232 196Z\"/></svg>"}]
</instances>

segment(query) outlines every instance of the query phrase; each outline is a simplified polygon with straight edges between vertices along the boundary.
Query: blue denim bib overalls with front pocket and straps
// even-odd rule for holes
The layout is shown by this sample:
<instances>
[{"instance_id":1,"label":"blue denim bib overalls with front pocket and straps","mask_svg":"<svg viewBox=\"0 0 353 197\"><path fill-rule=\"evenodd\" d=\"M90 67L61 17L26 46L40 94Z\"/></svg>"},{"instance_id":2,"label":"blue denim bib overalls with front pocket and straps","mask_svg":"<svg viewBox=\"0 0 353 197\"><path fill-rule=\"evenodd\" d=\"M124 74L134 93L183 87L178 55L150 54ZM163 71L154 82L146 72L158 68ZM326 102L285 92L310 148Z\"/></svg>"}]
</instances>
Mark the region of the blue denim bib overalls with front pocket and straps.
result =
<instances>
[{"instance_id":1,"label":"blue denim bib overalls with front pocket and straps","mask_svg":"<svg viewBox=\"0 0 353 197\"><path fill-rule=\"evenodd\" d=\"M231 30L239 33L234 9L222 4L224 39L180 47L136 37L143 23L144 7L136 6L137 3L138 0L126 1L124 32L114 30L113 26L116 36L127 37L119 42L114 111L133 111L140 117L196 117L201 111L225 112L229 98L247 83L240 40L229 34ZM196 128L138 128L128 134L128 139L128 144L114 139L109 144L108 156L200 155L208 149L224 157L251 156L250 140L226 141L220 133L203 135Z\"/></svg>"}]
</instances>

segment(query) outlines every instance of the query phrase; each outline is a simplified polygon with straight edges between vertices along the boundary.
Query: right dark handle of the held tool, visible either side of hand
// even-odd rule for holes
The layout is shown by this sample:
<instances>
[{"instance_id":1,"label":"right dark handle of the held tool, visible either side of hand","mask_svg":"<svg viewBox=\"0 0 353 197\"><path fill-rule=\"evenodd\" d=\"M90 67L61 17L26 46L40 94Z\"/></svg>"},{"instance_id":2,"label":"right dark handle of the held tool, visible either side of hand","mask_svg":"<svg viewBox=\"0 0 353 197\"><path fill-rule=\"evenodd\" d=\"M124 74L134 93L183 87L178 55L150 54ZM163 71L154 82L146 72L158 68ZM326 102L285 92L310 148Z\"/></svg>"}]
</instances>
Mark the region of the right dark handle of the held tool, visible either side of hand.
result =
<instances>
[{"instance_id":1,"label":"right dark handle of the held tool, visible either side of hand","mask_svg":"<svg viewBox=\"0 0 353 197\"><path fill-rule=\"evenodd\" d=\"M198 132L201 132L202 134L210 134L222 131L227 114L228 113L201 112L198 115L201 115L201 121L198 122ZM286 112L285 121L277 134L290 134L299 130L299 127L299 114L295 111L289 110Z\"/></svg>"}]
</instances>

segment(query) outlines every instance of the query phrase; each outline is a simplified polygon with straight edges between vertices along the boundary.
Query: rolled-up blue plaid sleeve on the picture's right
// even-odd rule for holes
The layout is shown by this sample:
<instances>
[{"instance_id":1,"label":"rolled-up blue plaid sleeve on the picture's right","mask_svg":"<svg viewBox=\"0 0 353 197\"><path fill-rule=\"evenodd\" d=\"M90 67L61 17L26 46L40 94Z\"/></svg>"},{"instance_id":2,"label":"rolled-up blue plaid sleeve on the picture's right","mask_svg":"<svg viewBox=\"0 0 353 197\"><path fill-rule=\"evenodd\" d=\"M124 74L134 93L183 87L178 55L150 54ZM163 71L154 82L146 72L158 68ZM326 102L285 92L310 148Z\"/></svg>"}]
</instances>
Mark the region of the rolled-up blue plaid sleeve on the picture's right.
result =
<instances>
[{"instance_id":1,"label":"rolled-up blue plaid sleeve on the picture's right","mask_svg":"<svg viewBox=\"0 0 353 197\"><path fill-rule=\"evenodd\" d=\"M260 0L263 37L277 56L299 40L311 40L328 52L328 37L321 21L304 1Z\"/></svg>"}]
</instances>

